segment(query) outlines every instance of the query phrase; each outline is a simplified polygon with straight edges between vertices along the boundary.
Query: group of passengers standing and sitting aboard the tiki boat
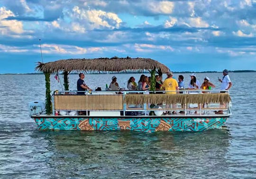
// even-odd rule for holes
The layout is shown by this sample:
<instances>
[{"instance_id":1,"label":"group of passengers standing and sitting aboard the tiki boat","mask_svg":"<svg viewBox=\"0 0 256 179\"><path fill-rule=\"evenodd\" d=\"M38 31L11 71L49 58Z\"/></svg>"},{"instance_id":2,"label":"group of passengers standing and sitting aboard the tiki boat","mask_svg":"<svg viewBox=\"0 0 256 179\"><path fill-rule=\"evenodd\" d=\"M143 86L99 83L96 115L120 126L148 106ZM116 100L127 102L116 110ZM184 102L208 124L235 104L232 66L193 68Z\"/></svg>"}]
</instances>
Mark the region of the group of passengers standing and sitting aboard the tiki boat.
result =
<instances>
[{"instance_id":1,"label":"group of passengers standing and sitting aboard the tiki boat","mask_svg":"<svg viewBox=\"0 0 256 179\"><path fill-rule=\"evenodd\" d=\"M167 78L162 81L161 77L159 75L155 75L155 90L156 91L161 91L161 90L166 90L166 94L176 94L176 91L179 89L185 89L184 86L184 77L183 75L179 75L178 77L178 81L176 81L173 78L173 72L167 72ZM187 89L211 89L215 88L216 86L210 82L210 78L209 77L205 77L204 81L202 82L202 84L200 85L200 82L196 79L196 75L194 73L192 73L190 75L191 80L188 84L188 88ZM146 75L142 74L140 76L140 79L138 81L138 84L135 82L135 78L134 77L130 77L127 83L127 88L128 90L149 90L151 87L150 84L150 77L147 77ZM79 73L79 79L77 81L77 94L84 94L85 90L90 90L92 91L91 88L89 88L85 82L84 82L84 74L83 73ZM229 71L228 70L223 70L223 77L222 80L219 79L219 82L221 82L221 86L220 86L220 90L228 90L231 88L232 83L230 81L229 78ZM117 77L113 76L112 77L112 81L110 83L109 86L109 90L114 90L117 91L119 90L119 84L117 82ZM182 93L182 92L180 92ZM173 108L176 108L175 106L176 104L173 104ZM220 104L220 105L224 105L224 104ZM176 112L174 111L173 114L175 114ZM216 111L216 114L223 114L222 110Z\"/></svg>"}]
</instances>

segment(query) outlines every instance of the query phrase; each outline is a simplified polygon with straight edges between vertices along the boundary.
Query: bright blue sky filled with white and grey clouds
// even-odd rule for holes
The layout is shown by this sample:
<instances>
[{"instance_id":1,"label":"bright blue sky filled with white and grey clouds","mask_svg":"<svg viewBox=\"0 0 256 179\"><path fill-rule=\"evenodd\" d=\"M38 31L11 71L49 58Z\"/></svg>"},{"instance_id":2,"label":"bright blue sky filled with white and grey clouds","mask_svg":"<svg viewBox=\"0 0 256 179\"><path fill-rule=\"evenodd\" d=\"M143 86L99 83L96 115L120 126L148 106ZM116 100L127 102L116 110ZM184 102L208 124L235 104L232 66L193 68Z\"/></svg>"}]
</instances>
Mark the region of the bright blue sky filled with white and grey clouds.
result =
<instances>
[{"instance_id":1,"label":"bright blue sky filled with white and grey clouds","mask_svg":"<svg viewBox=\"0 0 256 179\"><path fill-rule=\"evenodd\" d=\"M256 70L256 0L0 0L0 74L113 56Z\"/></svg>"}]
</instances>

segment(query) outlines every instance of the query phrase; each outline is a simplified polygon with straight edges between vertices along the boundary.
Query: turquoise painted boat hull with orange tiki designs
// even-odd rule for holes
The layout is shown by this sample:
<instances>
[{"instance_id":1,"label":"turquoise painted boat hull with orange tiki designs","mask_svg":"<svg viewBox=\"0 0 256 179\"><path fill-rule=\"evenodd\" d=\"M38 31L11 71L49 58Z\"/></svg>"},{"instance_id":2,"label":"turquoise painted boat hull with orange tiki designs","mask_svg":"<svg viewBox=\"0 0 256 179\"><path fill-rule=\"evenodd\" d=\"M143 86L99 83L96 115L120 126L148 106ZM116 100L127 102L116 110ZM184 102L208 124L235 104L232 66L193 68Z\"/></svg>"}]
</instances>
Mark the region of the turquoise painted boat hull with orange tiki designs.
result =
<instances>
[{"instance_id":1,"label":"turquoise painted boat hull with orange tiki designs","mask_svg":"<svg viewBox=\"0 0 256 179\"><path fill-rule=\"evenodd\" d=\"M91 116L31 116L39 130L111 131L204 131L221 129L227 116L221 117L91 117Z\"/></svg>"}]
</instances>

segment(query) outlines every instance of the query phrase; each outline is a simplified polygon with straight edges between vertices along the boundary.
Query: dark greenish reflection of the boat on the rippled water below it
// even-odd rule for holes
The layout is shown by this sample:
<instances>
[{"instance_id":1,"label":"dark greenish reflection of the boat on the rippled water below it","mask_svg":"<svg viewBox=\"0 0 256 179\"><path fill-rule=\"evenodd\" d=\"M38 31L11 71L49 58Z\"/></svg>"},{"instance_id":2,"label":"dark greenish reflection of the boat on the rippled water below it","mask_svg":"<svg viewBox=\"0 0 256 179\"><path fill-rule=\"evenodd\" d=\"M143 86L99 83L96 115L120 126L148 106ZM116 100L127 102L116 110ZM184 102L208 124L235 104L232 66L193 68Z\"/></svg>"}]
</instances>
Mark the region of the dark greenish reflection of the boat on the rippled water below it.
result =
<instances>
[{"instance_id":1,"label":"dark greenish reflection of the boat on the rippled water below it","mask_svg":"<svg viewBox=\"0 0 256 179\"><path fill-rule=\"evenodd\" d=\"M46 165L55 177L64 173L66 177L86 174L110 178L123 175L189 177L192 170L203 175L212 175L217 170L224 173L231 138L224 130L152 134L134 131L34 133L36 137L43 136L47 150L53 152Z\"/></svg>"}]
</instances>

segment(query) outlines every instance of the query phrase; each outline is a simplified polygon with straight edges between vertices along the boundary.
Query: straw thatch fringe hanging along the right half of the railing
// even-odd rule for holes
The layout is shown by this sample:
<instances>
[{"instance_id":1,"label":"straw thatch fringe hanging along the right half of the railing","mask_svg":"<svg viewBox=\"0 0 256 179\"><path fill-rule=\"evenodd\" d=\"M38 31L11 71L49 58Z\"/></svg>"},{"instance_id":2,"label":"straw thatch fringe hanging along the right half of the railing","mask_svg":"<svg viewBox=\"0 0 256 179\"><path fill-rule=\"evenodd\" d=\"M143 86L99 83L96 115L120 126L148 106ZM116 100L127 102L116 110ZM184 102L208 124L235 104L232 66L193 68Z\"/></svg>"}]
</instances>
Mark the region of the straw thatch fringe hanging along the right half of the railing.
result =
<instances>
[{"instance_id":1,"label":"straw thatch fringe hanging along the right half of the railing","mask_svg":"<svg viewBox=\"0 0 256 179\"><path fill-rule=\"evenodd\" d=\"M172 104L172 103L221 103L230 102L228 93L209 93L209 94L127 94L124 102L126 104Z\"/></svg>"}]
</instances>

